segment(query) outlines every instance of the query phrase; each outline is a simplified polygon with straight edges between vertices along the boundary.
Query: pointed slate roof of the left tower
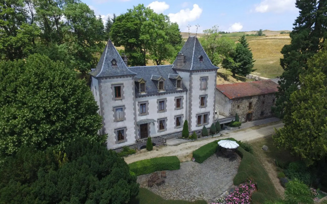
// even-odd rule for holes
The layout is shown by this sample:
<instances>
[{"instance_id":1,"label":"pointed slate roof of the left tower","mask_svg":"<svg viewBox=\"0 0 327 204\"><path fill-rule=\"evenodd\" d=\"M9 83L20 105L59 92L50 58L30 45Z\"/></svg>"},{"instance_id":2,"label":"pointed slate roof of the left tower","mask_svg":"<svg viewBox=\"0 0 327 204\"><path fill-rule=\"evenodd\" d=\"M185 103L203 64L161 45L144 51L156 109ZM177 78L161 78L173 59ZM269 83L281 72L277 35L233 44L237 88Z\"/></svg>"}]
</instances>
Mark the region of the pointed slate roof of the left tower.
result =
<instances>
[{"instance_id":1,"label":"pointed slate roof of the left tower","mask_svg":"<svg viewBox=\"0 0 327 204\"><path fill-rule=\"evenodd\" d=\"M115 59L117 62L116 66L111 65L111 61L113 59ZM89 74L97 78L120 75L134 75L135 73L129 70L122 57L119 55L116 48L113 46L111 40L109 39L96 69L92 70Z\"/></svg>"}]
</instances>

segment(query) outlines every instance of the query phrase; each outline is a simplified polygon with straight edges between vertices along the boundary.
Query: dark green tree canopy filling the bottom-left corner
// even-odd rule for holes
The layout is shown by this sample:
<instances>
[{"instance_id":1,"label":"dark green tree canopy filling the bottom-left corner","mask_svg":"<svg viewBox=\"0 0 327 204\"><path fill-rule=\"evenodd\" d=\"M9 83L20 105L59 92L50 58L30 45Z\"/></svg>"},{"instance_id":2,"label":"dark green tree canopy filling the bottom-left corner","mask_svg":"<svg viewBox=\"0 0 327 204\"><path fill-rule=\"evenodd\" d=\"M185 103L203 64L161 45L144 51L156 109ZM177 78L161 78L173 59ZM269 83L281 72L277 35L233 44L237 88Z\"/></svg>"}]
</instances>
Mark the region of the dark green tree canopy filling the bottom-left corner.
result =
<instances>
[{"instance_id":1,"label":"dark green tree canopy filling the bottom-left corner","mask_svg":"<svg viewBox=\"0 0 327 204\"><path fill-rule=\"evenodd\" d=\"M0 167L0 202L126 203L137 195L136 176L116 152L84 139L65 146L65 161L52 148L22 147L9 157Z\"/></svg>"}]
</instances>

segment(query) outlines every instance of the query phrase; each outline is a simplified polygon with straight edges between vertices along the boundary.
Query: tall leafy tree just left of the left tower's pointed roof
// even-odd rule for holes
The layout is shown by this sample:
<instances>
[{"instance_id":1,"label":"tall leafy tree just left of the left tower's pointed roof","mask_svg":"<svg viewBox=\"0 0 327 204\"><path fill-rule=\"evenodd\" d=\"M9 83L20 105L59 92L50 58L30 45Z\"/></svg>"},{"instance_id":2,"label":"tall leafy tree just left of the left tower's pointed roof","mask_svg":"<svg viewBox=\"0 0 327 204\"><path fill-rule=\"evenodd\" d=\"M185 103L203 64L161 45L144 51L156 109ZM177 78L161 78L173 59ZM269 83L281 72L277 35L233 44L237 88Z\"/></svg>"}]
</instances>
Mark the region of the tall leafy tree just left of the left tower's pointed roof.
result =
<instances>
[{"instance_id":1,"label":"tall leafy tree just left of the left tower's pointed roof","mask_svg":"<svg viewBox=\"0 0 327 204\"><path fill-rule=\"evenodd\" d=\"M63 13L65 22L65 44L71 56L69 66L84 75L96 67L98 60L94 53L99 52L104 44L104 28L101 19L84 3L69 3Z\"/></svg>"}]
</instances>

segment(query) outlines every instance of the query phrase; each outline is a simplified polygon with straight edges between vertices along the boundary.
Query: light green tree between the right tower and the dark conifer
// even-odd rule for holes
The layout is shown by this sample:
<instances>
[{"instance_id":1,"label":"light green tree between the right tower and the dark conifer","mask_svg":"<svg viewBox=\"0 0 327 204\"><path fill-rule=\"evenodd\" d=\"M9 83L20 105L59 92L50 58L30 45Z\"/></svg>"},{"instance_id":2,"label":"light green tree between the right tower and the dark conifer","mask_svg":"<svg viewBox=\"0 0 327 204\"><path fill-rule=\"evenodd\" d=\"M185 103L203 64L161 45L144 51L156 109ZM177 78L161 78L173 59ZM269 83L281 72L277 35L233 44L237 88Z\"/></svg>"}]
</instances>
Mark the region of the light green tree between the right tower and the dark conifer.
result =
<instances>
[{"instance_id":1,"label":"light green tree between the right tower and the dark conifer","mask_svg":"<svg viewBox=\"0 0 327 204\"><path fill-rule=\"evenodd\" d=\"M200 38L200 41L211 62L215 66L219 66L223 60L233 63L231 56L235 53L236 45L234 41L228 37L220 37L216 25L212 29L207 29L203 32L206 35L204 38Z\"/></svg>"}]
</instances>

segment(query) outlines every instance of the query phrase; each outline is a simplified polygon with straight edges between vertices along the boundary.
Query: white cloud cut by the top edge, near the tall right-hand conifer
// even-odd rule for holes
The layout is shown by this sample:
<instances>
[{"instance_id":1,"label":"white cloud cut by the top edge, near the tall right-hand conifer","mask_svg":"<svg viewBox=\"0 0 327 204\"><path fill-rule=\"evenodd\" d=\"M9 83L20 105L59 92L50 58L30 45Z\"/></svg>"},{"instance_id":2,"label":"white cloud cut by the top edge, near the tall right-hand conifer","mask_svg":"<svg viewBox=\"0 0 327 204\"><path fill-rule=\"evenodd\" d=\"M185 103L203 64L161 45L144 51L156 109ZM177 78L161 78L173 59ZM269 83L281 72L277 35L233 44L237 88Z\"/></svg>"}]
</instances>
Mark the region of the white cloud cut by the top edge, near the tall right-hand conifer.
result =
<instances>
[{"instance_id":1,"label":"white cloud cut by the top edge, near the tall right-hand conifer","mask_svg":"<svg viewBox=\"0 0 327 204\"><path fill-rule=\"evenodd\" d=\"M260 4L254 5L255 12L266 13L295 10L295 0L263 0Z\"/></svg>"}]
</instances>

